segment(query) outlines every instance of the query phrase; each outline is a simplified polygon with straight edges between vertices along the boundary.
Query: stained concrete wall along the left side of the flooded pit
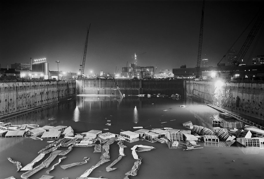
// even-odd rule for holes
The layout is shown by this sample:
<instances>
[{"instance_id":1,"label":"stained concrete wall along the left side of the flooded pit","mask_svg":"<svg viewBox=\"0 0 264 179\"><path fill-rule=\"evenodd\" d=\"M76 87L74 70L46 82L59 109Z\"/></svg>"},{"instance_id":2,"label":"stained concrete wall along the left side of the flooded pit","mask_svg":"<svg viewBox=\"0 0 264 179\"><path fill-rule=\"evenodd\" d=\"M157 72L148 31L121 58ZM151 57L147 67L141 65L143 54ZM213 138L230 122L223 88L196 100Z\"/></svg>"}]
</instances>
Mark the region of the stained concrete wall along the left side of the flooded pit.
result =
<instances>
[{"instance_id":1,"label":"stained concrete wall along the left side of the flooded pit","mask_svg":"<svg viewBox=\"0 0 264 179\"><path fill-rule=\"evenodd\" d=\"M0 116L76 96L76 81L0 83Z\"/></svg>"}]
</instances>

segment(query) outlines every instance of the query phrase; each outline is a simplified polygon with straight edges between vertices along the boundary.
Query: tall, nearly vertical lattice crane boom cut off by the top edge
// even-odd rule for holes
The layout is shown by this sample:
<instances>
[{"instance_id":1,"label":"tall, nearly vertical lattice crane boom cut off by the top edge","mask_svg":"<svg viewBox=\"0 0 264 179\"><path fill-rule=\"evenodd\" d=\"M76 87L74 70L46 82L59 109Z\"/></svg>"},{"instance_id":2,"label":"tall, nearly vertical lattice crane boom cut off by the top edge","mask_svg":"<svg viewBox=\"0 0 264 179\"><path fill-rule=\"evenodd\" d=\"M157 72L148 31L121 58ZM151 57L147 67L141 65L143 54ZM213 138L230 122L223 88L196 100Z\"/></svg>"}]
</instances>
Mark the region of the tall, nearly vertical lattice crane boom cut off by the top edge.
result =
<instances>
[{"instance_id":1,"label":"tall, nearly vertical lattice crane boom cut off by the top edge","mask_svg":"<svg viewBox=\"0 0 264 179\"><path fill-rule=\"evenodd\" d=\"M199 35L199 44L198 44L198 56L197 56L196 76L195 76L195 78L198 78L199 77L199 73L200 73L202 44L203 44L203 30L204 30L204 5L205 5L205 0L203 1L203 8L202 8L202 20L201 20L201 26L200 26L200 35Z\"/></svg>"}]
</instances>

